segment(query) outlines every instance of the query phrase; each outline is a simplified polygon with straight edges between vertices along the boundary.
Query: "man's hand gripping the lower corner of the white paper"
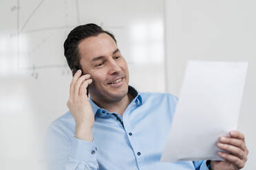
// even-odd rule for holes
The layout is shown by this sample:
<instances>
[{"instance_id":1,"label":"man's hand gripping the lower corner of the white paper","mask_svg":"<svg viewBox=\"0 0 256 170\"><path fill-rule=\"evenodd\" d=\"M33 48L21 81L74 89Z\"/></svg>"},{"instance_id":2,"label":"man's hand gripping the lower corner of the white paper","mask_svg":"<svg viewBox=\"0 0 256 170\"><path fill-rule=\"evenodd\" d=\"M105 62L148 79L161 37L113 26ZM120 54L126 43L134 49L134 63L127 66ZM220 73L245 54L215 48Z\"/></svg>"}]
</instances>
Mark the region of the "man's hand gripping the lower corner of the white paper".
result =
<instances>
[{"instance_id":1,"label":"man's hand gripping the lower corner of the white paper","mask_svg":"<svg viewBox=\"0 0 256 170\"><path fill-rule=\"evenodd\" d=\"M224 161L211 161L213 170L237 170L242 169L247 161L248 149L246 147L244 134L237 131L229 133L230 136L220 137L217 147L227 151L218 152Z\"/></svg>"}]
</instances>

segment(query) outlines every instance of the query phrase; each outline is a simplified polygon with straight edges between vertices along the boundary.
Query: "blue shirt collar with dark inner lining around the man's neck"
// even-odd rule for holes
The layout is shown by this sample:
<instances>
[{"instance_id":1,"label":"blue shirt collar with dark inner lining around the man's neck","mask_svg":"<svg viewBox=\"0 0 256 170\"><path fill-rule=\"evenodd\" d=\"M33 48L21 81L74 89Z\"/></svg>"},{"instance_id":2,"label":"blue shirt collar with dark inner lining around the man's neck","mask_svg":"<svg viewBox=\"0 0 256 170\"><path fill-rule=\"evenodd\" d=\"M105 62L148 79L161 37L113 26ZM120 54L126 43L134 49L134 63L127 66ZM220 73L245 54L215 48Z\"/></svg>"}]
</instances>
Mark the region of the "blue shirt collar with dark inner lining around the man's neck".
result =
<instances>
[{"instance_id":1,"label":"blue shirt collar with dark inner lining around the man's neck","mask_svg":"<svg viewBox=\"0 0 256 170\"><path fill-rule=\"evenodd\" d=\"M142 105L142 96L140 95L140 93L138 93L138 91L132 87L132 86L128 86L128 93L131 94L132 97L134 97L134 99L131 101L132 102L135 102L138 106ZM92 98L89 96L89 103L91 104L92 106L92 110L94 111L94 115L97 113L97 112L100 112L100 110L105 110L103 108L100 108L98 107L98 105L96 105L94 103L94 101L92 101ZM108 112L107 110L105 110L106 112Z\"/></svg>"}]
</instances>

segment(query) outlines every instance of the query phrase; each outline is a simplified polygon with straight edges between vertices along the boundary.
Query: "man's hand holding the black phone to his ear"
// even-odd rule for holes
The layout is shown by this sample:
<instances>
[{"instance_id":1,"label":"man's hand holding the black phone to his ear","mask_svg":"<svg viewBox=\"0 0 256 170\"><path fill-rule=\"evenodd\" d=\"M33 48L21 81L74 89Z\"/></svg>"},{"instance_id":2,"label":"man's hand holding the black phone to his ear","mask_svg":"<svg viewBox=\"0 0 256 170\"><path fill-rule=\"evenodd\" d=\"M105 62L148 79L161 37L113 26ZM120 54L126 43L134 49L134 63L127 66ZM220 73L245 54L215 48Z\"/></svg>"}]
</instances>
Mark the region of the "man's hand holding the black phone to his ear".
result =
<instances>
[{"instance_id":1,"label":"man's hand holding the black phone to his ear","mask_svg":"<svg viewBox=\"0 0 256 170\"><path fill-rule=\"evenodd\" d=\"M87 86L92 83L90 75L82 75L78 70L70 84L70 99L67 107L70 109L76 122L75 137L84 141L93 141L92 127L94 125L94 112L86 95Z\"/></svg>"}]
</instances>

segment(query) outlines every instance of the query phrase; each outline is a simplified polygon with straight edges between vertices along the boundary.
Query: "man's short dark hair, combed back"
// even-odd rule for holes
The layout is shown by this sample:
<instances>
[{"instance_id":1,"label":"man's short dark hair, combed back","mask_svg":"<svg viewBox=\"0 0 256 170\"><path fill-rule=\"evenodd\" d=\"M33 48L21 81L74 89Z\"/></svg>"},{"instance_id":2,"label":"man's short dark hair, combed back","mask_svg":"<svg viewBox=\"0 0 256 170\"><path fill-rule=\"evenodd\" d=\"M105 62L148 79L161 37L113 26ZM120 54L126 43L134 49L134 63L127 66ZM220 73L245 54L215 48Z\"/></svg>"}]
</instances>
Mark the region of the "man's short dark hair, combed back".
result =
<instances>
[{"instance_id":1,"label":"man's short dark hair, combed back","mask_svg":"<svg viewBox=\"0 0 256 170\"><path fill-rule=\"evenodd\" d=\"M74 66L76 66L78 69L82 69L80 64L81 56L78 50L79 43L85 38L98 36L98 34L101 33L108 34L116 42L116 38L113 34L105 31L94 23L88 23L75 27L70 32L70 34L68 34L64 42L64 55L67 59L68 66L70 66L70 69L73 69Z\"/></svg>"}]
</instances>

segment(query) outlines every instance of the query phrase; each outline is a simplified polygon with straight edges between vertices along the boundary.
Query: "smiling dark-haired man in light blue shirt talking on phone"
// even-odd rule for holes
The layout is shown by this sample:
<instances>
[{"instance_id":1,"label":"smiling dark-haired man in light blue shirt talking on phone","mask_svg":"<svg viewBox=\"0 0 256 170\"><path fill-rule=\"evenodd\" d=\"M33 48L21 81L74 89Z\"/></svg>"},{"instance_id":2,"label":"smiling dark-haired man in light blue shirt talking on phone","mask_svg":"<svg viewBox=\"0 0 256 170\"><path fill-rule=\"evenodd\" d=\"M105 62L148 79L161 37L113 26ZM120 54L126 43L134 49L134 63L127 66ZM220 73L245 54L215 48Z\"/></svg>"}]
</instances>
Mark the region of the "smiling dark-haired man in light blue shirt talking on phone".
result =
<instances>
[{"instance_id":1,"label":"smiling dark-haired man in light blue shirt talking on phone","mask_svg":"<svg viewBox=\"0 0 256 170\"><path fill-rule=\"evenodd\" d=\"M244 167L244 135L233 131L217 146L225 161L160 162L177 97L138 93L116 39L95 24L76 27L65 40L65 57L78 69L67 112L49 128L50 169L230 169ZM153 83L152 77L152 83ZM89 97L87 97L87 87ZM185 138L185 136L184 136ZM198 139L200 140L200 138ZM184 140L186 145L186 140Z\"/></svg>"}]
</instances>

